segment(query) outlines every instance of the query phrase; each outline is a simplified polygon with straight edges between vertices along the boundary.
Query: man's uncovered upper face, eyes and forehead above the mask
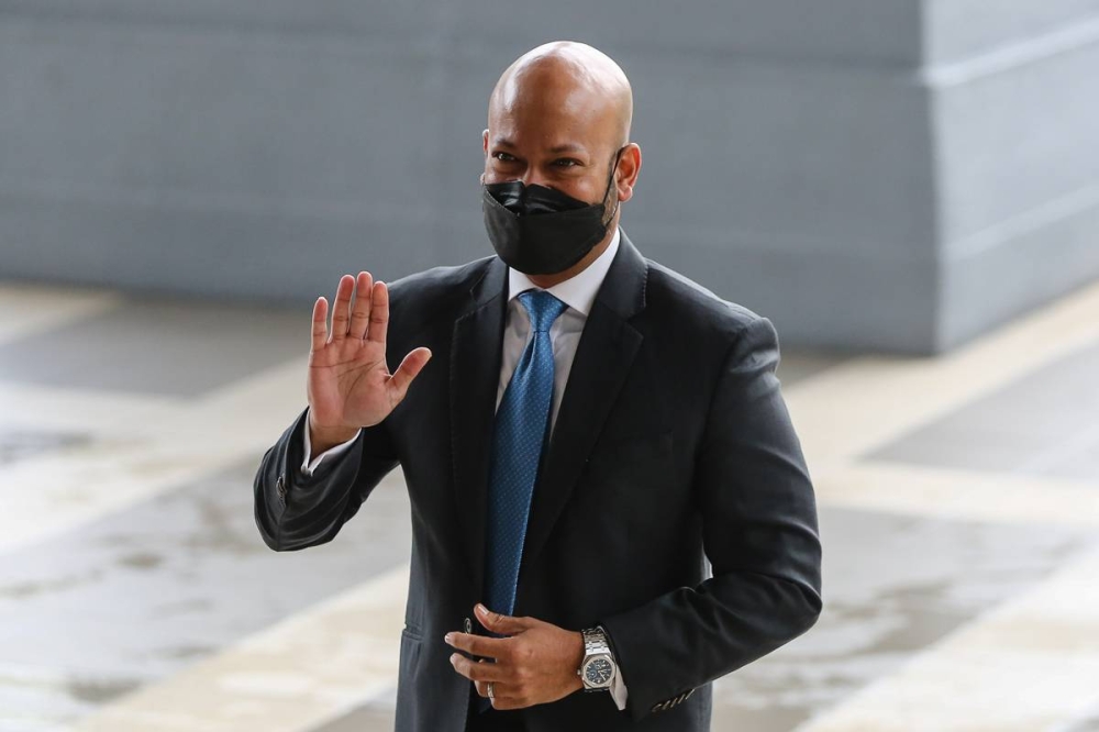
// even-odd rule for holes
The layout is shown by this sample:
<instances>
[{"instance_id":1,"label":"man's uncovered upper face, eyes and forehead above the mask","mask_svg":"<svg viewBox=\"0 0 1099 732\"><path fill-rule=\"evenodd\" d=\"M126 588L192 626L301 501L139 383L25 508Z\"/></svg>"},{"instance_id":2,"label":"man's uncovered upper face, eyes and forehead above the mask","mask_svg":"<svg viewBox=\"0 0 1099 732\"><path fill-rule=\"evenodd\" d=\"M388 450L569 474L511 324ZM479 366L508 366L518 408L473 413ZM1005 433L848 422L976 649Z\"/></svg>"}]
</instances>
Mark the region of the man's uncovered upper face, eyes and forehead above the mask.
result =
<instances>
[{"instance_id":1,"label":"man's uncovered upper face, eyes and forehead above the mask","mask_svg":"<svg viewBox=\"0 0 1099 732\"><path fill-rule=\"evenodd\" d=\"M484 133L486 184L521 180L554 188L588 203L602 202L614 163L613 130L606 108L587 95L506 89L489 110ZM612 187L607 198L614 201Z\"/></svg>"}]
</instances>

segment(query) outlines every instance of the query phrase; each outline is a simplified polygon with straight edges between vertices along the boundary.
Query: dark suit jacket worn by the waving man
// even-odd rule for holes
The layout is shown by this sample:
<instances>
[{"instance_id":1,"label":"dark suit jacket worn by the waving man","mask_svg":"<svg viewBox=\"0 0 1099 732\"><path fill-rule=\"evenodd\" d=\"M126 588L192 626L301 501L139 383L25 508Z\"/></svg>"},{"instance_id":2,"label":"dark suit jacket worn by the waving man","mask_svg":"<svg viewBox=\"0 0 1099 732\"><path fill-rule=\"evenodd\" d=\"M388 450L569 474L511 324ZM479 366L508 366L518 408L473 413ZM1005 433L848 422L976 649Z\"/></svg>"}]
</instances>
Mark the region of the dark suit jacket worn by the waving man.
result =
<instances>
[{"instance_id":1,"label":"dark suit jacket worn by the waving man","mask_svg":"<svg viewBox=\"0 0 1099 732\"><path fill-rule=\"evenodd\" d=\"M470 684L443 635L484 600L507 273L488 257L393 282L391 368L415 346L433 352L404 401L312 477L300 470L302 412L256 475L259 532L293 551L331 541L403 468L400 732L465 723ZM817 507L778 359L770 321L644 259L623 234L534 490L514 614L603 625L629 706L577 692L524 710L529 730L708 730L710 681L815 622Z\"/></svg>"}]
</instances>

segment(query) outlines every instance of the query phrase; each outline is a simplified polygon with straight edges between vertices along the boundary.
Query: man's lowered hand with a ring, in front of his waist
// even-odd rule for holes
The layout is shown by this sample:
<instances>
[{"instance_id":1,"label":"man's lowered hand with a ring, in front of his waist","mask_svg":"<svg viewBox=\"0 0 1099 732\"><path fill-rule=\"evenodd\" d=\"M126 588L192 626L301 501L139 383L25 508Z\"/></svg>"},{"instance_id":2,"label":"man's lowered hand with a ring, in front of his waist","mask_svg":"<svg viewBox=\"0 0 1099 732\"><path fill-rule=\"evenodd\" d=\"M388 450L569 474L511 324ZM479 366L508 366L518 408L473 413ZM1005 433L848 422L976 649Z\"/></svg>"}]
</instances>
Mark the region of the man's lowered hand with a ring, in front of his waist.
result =
<instances>
[{"instance_id":1,"label":"man's lowered hand with a ring, in front of his waist","mask_svg":"<svg viewBox=\"0 0 1099 732\"><path fill-rule=\"evenodd\" d=\"M492 683L492 707L521 709L557 701L584 688L576 670L584 661L584 636L534 618L513 618L490 612L485 606L474 608L481 625L506 637L469 633L447 633L447 644L460 653L451 656L454 670L488 695Z\"/></svg>"}]
</instances>

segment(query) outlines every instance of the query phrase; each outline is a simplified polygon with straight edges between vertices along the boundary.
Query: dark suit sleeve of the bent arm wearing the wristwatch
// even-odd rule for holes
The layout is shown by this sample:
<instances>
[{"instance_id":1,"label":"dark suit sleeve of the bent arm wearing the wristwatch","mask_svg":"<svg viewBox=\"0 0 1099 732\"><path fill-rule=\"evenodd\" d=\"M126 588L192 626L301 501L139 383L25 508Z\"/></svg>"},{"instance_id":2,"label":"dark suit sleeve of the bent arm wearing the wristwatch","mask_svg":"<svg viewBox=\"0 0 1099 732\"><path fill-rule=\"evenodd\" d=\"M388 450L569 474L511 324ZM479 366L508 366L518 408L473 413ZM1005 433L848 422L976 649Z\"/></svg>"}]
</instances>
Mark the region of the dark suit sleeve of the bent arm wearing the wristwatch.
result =
<instances>
[{"instance_id":1,"label":"dark suit sleeve of the bent arm wearing the wristwatch","mask_svg":"<svg viewBox=\"0 0 1099 732\"><path fill-rule=\"evenodd\" d=\"M778 361L778 335L758 318L714 389L692 487L713 576L600 621L634 719L770 653L821 612L817 503Z\"/></svg>"}]
</instances>

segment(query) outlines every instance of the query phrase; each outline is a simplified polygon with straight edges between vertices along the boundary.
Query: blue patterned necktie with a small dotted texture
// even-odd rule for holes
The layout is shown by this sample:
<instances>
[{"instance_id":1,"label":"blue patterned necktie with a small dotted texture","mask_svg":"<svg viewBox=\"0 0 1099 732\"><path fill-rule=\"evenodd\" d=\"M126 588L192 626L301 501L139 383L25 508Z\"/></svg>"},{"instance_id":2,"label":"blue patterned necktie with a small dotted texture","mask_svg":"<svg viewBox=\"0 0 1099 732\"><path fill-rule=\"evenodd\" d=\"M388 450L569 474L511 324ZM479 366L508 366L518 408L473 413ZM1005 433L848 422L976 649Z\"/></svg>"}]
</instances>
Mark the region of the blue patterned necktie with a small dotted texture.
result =
<instances>
[{"instance_id":1,"label":"blue patterned necktie with a small dotted texture","mask_svg":"<svg viewBox=\"0 0 1099 732\"><path fill-rule=\"evenodd\" d=\"M553 401L553 343L550 328L568 308L543 290L519 301L531 318L531 337L496 412L489 473L485 603L510 615L515 607L526 519L539 475Z\"/></svg>"}]
</instances>

